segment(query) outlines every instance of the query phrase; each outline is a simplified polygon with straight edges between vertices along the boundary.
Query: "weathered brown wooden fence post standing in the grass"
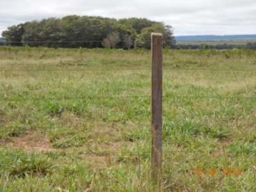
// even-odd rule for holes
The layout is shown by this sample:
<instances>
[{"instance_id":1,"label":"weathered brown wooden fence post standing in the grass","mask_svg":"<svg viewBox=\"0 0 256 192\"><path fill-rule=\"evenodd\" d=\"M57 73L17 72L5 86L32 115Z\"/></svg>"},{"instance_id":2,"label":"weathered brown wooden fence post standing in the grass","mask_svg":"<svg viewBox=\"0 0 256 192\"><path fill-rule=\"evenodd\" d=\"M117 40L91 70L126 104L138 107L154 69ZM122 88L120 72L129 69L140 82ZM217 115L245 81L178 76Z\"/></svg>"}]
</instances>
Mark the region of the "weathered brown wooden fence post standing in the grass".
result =
<instances>
[{"instance_id":1,"label":"weathered brown wooden fence post standing in the grass","mask_svg":"<svg viewBox=\"0 0 256 192\"><path fill-rule=\"evenodd\" d=\"M152 178L161 178L163 35L152 33Z\"/></svg>"}]
</instances>

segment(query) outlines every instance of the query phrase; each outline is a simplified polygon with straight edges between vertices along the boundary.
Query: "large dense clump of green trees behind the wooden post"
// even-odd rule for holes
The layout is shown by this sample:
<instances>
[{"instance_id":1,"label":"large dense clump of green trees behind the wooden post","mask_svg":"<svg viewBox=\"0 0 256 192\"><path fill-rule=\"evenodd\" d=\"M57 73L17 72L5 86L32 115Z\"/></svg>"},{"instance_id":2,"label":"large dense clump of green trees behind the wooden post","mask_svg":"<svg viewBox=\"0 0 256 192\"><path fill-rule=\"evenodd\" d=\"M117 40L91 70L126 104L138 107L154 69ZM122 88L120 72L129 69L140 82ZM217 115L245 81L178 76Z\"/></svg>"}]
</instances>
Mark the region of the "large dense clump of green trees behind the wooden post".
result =
<instances>
[{"instance_id":1,"label":"large dense clump of green trees behind the wooden post","mask_svg":"<svg viewBox=\"0 0 256 192\"><path fill-rule=\"evenodd\" d=\"M163 33L164 47L175 45L172 26L145 18L70 15L10 26L2 36L13 46L150 49L152 32Z\"/></svg>"}]
</instances>

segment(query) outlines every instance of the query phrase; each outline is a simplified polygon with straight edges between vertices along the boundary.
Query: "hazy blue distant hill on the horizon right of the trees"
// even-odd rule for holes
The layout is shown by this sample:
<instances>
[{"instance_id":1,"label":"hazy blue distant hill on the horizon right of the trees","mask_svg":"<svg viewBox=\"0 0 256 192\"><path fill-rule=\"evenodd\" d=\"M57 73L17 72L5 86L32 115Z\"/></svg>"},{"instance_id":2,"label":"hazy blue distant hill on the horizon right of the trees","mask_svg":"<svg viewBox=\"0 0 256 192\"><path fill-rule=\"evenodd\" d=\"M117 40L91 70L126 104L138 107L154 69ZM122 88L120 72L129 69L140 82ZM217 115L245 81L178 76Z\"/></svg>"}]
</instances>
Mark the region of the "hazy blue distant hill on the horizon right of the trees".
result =
<instances>
[{"instance_id":1,"label":"hazy blue distant hill on the horizon right of the trees","mask_svg":"<svg viewBox=\"0 0 256 192\"><path fill-rule=\"evenodd\" d=\"M255 35L184 35L175 36L177 41L180 40L256 40Z\"/></svg>"}]
</instances>

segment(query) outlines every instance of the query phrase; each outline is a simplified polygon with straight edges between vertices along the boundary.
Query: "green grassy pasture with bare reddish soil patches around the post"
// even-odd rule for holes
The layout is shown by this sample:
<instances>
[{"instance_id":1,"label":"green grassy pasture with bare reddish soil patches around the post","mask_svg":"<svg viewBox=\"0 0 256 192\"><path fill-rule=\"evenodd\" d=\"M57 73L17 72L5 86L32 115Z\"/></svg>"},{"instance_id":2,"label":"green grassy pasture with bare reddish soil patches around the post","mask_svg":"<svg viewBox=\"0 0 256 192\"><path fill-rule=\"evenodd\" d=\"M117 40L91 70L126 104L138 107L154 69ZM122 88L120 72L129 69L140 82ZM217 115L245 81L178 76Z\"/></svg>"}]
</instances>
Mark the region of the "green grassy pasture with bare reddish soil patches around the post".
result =
<instances>
[{"instance_id":1,"label":"green grassy pasture with bare reddish soil patches around the post","mask_svg":"<svg viewBox=\"0 0 256 192\"><path fill-rule=\"evenodd\" d=\"M256 51L164 51L160 187L150 51L1 47L0 69L0 191L256 191Z\"/></svg>"}]
</instances>

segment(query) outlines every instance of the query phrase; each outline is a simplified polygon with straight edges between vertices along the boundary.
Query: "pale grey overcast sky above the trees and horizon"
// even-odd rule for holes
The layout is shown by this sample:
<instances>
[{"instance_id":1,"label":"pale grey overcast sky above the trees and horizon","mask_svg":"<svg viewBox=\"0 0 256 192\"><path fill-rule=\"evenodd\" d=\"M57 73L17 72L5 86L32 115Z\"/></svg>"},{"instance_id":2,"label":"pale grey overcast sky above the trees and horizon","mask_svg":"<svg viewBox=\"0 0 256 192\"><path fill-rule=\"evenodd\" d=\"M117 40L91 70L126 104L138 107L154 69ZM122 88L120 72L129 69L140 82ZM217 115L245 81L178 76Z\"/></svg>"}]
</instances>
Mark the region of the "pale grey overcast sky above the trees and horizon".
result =
<instances>
[{"instance_id":1,"label":"pale grey overcast sky above the trees and horizon","mask_svg":"<svg viewBox=\"0 0 256 192\"><path fill-rule=\"evenodd\" d=\"M0 0L0 33L65 15L147 17L172 25L175 35L256 33L256 0Z\"/></svg>"}]
</instances>

